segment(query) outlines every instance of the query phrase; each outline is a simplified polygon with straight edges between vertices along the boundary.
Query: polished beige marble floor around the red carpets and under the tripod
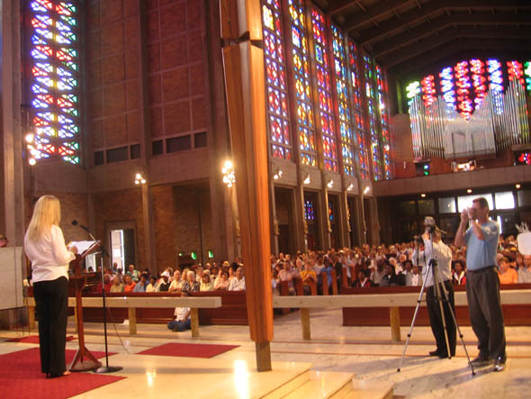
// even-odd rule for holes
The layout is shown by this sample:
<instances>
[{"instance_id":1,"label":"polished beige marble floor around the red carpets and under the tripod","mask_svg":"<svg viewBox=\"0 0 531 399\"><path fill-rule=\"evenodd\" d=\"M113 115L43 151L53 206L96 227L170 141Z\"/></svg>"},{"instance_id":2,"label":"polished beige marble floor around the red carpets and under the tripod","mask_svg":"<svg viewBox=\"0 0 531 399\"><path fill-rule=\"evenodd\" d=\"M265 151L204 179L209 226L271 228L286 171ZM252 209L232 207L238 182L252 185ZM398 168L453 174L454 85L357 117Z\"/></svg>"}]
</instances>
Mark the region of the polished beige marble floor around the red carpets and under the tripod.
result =
<instances>
[{"instance_id":1,"label":"polished beige marble floor around the red carpets and under the tripod","mask_svg":"<svg viewBox=\"0 0 531 399\"><path fill-rule=\"evenodd\" d=\"M271 343L275 376L272 378L286 378L299 369L311 367L320 372L348 372L374 382L392 381L394 396L400 398L531 396L531 326L506 328L505 371L494 373L491 366L482 367L473 376L460 340L455 358L429 358L428 351L434 349L431 331L428 327L416 327L401 372L397 372L404 342L392 343L389 327L344 327L341 322L340 309L311 310L312 340L304 341L298 312L275 318L275 338ZM408 330L402 327L402 340ZM123 370L116 374L128 378L78 397L178 397L175 376L184 376L186 385L198 387L195 394L187 397L259 396L260 386L270 384L260 379L263 376L257 376L264 373L254 370L255 345L245 326L202 326L198 339L192 339L190 331L172 332L159 324L139 324L135 336L129 335L125 324L111 324L108 331L109 350L117 353L109 358L110 365L122 366ZM470 327L462 327L461 331L473 358L477 354L473 331ZM73 319L69 321L68 333L75 334ZM0 331L2 338L27 334L28 331ZM239 347L207 360L134 355L170 341L226 343ZM103 350L103 342L102 325L86 323L86 347ZM0 354L34 346L0 340ZM67 342L67 348L76 349L76 340ZM236 379L245 384L238 384L241 388L238 391L230 391L230 386L237 385Z\"/></svg>"}]
</instances>

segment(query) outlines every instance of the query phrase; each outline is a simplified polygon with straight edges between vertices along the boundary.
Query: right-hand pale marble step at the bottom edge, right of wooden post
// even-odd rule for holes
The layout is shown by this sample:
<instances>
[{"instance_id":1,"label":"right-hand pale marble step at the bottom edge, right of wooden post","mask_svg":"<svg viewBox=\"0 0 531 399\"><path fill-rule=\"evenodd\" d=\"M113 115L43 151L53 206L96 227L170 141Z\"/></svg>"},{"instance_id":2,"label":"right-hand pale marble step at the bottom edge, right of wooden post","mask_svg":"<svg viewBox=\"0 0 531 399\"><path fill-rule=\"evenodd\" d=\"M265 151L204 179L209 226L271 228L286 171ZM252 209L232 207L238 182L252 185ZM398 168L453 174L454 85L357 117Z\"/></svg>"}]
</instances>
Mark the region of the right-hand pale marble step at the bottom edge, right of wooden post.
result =
<instances>
[{"instance_id":1,"label":"right-hand pale marble step at the bottom edge, right of wooden post","mask_svg":"<svg viewBox=\"0 0 531 399\"><path fill-rule=\"evenodd\" d=\"M343 397L352 391L352 373L310 371L308 379L285 399Z\"/></svg>"}]
</instances>

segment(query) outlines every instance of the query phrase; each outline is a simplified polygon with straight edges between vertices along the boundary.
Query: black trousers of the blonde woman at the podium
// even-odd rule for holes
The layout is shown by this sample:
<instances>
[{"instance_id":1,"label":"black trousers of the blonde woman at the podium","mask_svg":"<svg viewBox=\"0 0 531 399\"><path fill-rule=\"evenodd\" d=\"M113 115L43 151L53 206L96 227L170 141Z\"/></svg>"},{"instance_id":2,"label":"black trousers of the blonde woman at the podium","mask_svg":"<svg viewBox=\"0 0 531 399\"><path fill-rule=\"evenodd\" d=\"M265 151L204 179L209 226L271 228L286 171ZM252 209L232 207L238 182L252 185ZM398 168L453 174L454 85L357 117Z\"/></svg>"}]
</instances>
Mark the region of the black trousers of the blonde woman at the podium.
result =
<instances>
[{"instance_id":1,"label":"black trousers of the blonde woman at the podium","mask_svg":"<svg viewBox=\"0 0 531 399\"><path fill-rule=\"evenodd\" d=\"M68 280L40 281L33 285L35 316L39 321L40 371L62 374L67 370Z\"/></svg>"}]
</instances>

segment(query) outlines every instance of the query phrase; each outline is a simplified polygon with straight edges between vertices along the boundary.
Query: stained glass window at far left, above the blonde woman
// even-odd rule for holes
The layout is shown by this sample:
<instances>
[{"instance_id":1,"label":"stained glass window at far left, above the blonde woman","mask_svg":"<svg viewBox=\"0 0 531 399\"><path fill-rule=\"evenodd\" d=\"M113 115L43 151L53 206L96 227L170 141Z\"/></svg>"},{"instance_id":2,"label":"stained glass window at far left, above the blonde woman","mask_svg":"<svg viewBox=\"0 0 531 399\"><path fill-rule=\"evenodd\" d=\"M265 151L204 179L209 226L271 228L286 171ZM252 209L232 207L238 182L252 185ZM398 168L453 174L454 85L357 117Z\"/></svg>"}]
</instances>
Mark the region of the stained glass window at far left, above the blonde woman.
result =
<instances>
[{"instance_id":1,"label":"stained glass window at far left, above the blonde woman","mask_svg":"<svg viewBox=\"0 0 531 399\"><path fill-rule=\"evenodd\" d=\"M78 2L29 2L34 159L80 163Z\"/></svg>"}]
</instances>

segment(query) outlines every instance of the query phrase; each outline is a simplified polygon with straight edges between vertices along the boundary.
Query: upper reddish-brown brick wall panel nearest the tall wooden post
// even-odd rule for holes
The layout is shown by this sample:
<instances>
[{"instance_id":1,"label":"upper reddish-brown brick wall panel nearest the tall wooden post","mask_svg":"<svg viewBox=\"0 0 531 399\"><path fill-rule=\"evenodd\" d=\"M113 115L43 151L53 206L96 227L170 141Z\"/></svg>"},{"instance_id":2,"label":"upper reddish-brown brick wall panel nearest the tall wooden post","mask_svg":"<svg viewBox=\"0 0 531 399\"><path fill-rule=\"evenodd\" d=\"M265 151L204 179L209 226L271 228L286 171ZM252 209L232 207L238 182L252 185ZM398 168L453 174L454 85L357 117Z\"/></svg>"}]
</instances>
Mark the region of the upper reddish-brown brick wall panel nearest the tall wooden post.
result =
<instances>
[{"instance_id":1,"label":"upper reddish-brown brick wall panel nearest the tall wooden post","mask_svg":"<svg viewBox=\"0 0 531 399\"><path fill-rule=\"evenodd\" d=\"M148 2L148 97L152 138L206 129L202 2Z\"/></svg>"}]
</instances>

